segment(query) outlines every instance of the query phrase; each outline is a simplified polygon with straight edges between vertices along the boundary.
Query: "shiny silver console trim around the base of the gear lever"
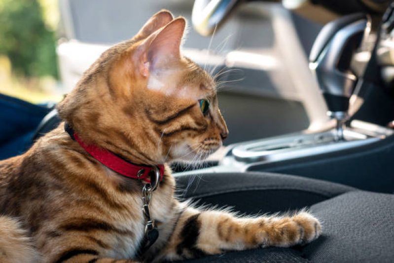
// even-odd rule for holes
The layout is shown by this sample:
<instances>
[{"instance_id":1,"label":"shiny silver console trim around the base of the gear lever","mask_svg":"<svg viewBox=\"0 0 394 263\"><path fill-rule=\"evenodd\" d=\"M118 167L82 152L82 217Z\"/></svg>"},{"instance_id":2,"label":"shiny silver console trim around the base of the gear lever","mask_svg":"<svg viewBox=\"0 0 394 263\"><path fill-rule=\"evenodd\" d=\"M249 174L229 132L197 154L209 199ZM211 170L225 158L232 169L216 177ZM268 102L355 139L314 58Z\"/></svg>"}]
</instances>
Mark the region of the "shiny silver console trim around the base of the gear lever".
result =
<instances>
[{"instance_id":1,"label":"shiny silver console trim around the base of the gear lever","mask_svg":"<svg viewBox=\"0 0 394 263\"><path fill-rule=\"evenodd\" d=\"M394 134L393 129L359 120L353 120L350 127L344 130L345 140L342 141L335 141L334 129L308 132L306 130L228 146L217 166L200 169L198 173L246 172L259 165L373 144ZM196 174L196 171L179 174Z\"/></svg>"}]
</instances>

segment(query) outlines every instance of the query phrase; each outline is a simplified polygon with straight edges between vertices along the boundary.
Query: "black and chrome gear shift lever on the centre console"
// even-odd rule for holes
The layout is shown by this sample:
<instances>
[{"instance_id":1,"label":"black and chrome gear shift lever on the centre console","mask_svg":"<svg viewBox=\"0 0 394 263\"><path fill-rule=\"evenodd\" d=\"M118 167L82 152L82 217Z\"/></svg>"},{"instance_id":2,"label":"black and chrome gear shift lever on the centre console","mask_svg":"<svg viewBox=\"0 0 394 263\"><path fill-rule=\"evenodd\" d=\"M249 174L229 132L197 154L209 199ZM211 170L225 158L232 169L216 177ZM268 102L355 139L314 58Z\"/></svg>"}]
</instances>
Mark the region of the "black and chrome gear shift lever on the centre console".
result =
<instances>
[{"instance_id":1,"label":"black and chrome gear shift lever on the centre console","mask_svg":"<svg viewBox=\"0 0 394 263\"><path fill-rule=\"evenodd\" d=\"M365 27L366 19L362 14L328 23L316 38L309 56L309 67L319 82L327 114L337 121L336 140L343 140L349 99L357 82L350 64Z\"/></svg>"}]
</instances>

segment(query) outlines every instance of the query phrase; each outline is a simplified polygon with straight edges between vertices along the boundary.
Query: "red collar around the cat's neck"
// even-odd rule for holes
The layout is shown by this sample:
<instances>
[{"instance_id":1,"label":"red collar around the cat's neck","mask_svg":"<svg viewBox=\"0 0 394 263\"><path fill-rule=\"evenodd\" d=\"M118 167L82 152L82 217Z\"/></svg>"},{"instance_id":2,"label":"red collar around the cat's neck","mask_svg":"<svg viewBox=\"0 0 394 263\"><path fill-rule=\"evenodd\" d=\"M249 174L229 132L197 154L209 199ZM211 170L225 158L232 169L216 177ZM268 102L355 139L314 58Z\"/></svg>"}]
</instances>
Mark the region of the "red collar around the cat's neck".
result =
<instances>
[{"instance_id":1,"label":"red collar around the cat's neck","mask_svg":"<svg viewBox=\"0 0 394 263\"><path fill-rule=\"evenodd\" d=\"M137 165L128 162L109 150L102 149L96 145L85 144L76 134L72 127L65 123L65 130L70 134L70 137L75 140L83 149L92 155L99 162L107 166L112 171L129 178L141 179L150 183L150 172L154 172L154 167L147 165ZM160 181L163 179L164 165L159 164L157 167L160 170Z\"/></svg>"}]
</instances>

